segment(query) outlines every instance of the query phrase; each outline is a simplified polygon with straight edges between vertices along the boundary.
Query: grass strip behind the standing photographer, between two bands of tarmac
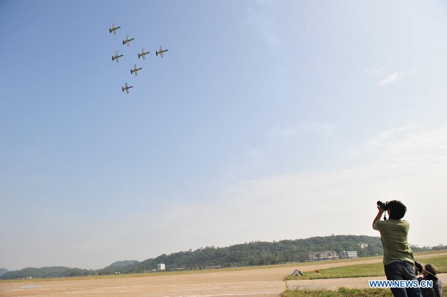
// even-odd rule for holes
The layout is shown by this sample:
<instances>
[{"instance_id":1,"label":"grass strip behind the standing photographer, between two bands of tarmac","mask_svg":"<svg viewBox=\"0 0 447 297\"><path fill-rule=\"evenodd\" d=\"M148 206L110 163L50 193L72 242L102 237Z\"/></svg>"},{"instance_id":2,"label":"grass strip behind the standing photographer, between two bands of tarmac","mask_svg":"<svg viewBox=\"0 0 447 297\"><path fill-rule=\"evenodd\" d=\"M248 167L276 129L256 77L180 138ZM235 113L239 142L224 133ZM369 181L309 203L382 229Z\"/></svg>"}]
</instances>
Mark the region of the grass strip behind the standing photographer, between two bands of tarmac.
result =
<instances>
[{"instance_id":1,"label":"grass strip behind the standing photographer, between two bands of tarmac","mask_svg":"<svg viewBox=\"0 0 447 297\"><path fill-rule=\"evenodd\" d=\"M415 255L417 260L417 255ZM439 273L447 272L447 256L423 258L420 262L434 264ZM304 276L286 276L285 280L313 280L313 279L338 279L356 278L367 276L384 276L382 263L358 264L336 268L321 269L317 274L315 271L304 272Z\"/></svg>"}]
</instances>

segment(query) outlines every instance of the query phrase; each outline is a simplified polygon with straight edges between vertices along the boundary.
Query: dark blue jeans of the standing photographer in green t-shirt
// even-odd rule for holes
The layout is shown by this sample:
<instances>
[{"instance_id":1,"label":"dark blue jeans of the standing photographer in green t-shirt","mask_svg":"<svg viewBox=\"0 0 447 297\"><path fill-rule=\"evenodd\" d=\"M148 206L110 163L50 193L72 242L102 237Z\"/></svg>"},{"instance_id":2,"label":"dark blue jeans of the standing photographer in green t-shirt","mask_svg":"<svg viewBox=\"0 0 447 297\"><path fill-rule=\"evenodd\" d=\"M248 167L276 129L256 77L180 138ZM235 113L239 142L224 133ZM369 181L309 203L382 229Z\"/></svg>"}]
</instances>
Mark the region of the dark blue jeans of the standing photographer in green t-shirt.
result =
<instances>
[{"instance_id":1,"label":"dark blue jeans of the standing photographer in green t-shirt","mask_svg":"<svg viewBox=\"0 0 447 297\"><path fill-rule=\"evenodd\" d=\"M383 266L387 280L416 280L413 264L408 261L396 261ZM420 288L391 288L394 297L422 297Z\"/></svg>"}]
</instances>

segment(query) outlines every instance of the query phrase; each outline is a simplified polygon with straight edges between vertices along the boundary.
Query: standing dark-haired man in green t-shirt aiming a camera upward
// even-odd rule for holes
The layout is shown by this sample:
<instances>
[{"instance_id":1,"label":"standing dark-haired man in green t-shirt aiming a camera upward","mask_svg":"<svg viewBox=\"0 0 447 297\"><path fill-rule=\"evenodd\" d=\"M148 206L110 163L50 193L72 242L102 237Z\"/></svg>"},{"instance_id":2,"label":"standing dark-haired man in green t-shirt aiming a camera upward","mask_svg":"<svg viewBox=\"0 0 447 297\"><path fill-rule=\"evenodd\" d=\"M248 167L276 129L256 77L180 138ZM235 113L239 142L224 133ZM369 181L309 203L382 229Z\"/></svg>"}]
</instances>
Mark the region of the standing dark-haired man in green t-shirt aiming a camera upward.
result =
<instances>
[{"instance_id":1,"label":"standing dark-haired man in green t-shirt aiming a camera upward","mask_svg":"<svg viewBox=\"0 0 447 297\"><path fill-rule=\"evenodd\" d=\"M378 213L373 229L380 232L383 245L383 267L387 280L416 280L413 251L408 244L410 223L402 220L407 208L397 200L377 202ZM387 209L388 220L380 217ZM391 288L394 297L422 297L420 288Z\"/></svg>"}]
</instances>

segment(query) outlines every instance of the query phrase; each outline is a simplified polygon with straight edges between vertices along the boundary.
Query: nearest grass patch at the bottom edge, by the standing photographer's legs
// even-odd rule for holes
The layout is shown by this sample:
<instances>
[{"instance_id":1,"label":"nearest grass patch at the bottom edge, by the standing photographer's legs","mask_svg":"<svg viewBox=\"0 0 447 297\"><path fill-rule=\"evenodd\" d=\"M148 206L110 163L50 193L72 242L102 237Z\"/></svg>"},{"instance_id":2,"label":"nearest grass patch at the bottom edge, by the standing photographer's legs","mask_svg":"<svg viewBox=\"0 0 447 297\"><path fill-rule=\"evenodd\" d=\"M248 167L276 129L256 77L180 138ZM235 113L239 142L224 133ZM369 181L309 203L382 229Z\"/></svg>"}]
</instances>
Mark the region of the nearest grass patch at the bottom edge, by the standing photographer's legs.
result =
<instances>
[{"instance_id":1,"label":"nearest grass patch at the bottom edge, by the standing photographer's legs","mask_svg":"<svg viewBox=\"0 0 447 297\"><path fill-rule=\"evenodd\" d=\"M392 297L389 289L347 289L332 290L287 290L281 297ZM447 296L447 286L443 287L443 296Z\"/></svg>"}]
</instances>

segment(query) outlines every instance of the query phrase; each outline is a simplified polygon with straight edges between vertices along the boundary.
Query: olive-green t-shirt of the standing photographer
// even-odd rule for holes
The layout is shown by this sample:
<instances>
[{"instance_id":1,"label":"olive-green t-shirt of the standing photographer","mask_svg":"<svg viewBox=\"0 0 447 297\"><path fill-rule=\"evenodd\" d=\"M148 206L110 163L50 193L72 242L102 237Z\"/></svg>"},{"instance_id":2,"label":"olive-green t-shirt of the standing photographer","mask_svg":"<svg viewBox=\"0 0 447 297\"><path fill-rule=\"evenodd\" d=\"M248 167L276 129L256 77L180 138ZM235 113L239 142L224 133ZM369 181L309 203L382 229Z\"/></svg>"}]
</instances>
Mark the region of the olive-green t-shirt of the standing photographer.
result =
<instances>
[{"instance_id":1,"label":"olive-green t-shirt of the standing photographer","mask_svg":"<svg viewBox=\"0 0 447 297\"><path fill-rule=\"evenodd\" d=\"M374 223L373 228L379 231L382 237L383 265L396 261L408 261L414 264L413 251L407 239L410 223L405 220L379 220Z\"/></svg>"}]
</instances>

